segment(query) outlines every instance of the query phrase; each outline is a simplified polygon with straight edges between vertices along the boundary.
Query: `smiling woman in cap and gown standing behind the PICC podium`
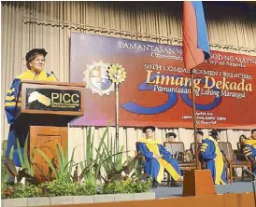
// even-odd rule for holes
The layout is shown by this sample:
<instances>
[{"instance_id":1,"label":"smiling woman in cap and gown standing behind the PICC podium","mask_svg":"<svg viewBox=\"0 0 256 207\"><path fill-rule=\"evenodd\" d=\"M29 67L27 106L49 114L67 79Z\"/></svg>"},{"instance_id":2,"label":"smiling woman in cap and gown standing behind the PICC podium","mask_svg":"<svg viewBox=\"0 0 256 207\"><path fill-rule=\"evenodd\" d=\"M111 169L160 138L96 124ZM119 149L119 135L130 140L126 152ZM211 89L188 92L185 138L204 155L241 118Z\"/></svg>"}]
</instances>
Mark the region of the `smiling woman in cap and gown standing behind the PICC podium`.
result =
<instances>
[{"instance_id":1,"label":"smiling woman in cap and gown standing behind the PICC podium","mask_svg":"<svg viewBox=\"0 0 256 207\"><path fill-rule=\"evenodd\" d=\"M20 159L18 157L17 151L17 138L21 144L24 145L26 134L17 134L15 131L15 113L16 113L16 103L17 106L21 106L21 97L19 96L19 88L21 80L40 80L40 81L56 81L56 78L49 73L46 73L43 68L45 65L45 57L47 51L44 48L34 48L27 52L26 54L26 66L27 70L20 76L14 78L11 87L7 90L7 97L5 101L5 110L7 114L7 122L10 124L9 133L7 139L7 158L9 157L10 149L14 145L14 157L13 161L16 166L21 167ZM23 149L21 149L22 152Z\"/></svg>"}]
</instances>

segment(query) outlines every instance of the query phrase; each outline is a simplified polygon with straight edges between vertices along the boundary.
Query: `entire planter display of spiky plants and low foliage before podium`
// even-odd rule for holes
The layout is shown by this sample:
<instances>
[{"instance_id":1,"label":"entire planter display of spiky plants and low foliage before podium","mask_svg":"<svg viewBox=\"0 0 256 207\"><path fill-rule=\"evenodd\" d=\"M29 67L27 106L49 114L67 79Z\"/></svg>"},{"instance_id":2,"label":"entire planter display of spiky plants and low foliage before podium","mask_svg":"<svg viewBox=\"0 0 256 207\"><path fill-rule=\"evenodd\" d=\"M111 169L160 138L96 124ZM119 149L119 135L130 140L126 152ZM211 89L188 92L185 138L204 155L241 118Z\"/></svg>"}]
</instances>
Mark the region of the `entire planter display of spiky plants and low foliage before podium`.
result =
<instances>
[{"instance_id":1,"label":"entire planter display of spiky plants and low foliage before podium","mask_svg":"<svg viewBox=\"0 0 256 207\"><path fill-rule=\"evenodd\" d=\"M107 138L107 143L106 143ZM47 183L39 184L33 177L33 163L25 155L21 155L21 147L18 145L19 157L21 159L21 167L19 171L13 164L13 161L6 159L6 169L9 174L16 176L17 180L22 177L26 178L31 185L17 184L6 195L8 198L22 198L22 197L38 197L38 196L75 196L75 195L94 195L97 192L101 194L109 193L139 193L149 191L151 181L145 174L137 174L135 167L137 166L137 159L128 158L123 162L122 157L124 147L115 148L115 142L109 142L108 127L100 138L100 143L97 148L93 148L94 134L92 128L89 128L87 134L86 157L84 162L75 163L73 149L71 159L68 160L67 153L64 153L62 145L57 144L57 161L50 160L47 155L39 148L34 147L49 164L50 172L55 173L55 180L48 180ZM112 140L112 139L111 139ZM19 141L18 141L19 142ZM27 142L26 145L27 147ZM24 151L26 151L25 149ZM93 153L96 154L93 154ZM123 163L122 163L123 162ZM75 171L72 174L73 167ZM81 168L82 173L78 176L78 167ZM132 175L130 175L134 172ZM50 173L50 174L51 174ZM50 177L50 174L48 177ZM96 187L96 181L105 181L103 185ZM83 181L83 182L82 182Z\"/></svg>"}]
</instances>

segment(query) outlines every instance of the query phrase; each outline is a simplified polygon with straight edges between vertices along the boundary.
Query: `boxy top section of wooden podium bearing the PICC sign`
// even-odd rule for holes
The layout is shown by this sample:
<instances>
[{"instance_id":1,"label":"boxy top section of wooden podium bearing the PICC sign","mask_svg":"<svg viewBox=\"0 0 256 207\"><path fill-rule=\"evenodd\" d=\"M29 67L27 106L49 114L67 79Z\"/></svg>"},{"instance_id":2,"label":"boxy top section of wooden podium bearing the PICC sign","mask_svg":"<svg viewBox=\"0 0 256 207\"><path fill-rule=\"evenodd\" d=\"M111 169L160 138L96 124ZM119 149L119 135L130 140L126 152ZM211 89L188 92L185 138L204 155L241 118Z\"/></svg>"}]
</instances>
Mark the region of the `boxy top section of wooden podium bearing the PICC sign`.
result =
<instances>
[{"instance_id":1,"label":"boxy top section of wooden podium bearing the PICC sign","mask_svg":"<svg viewBox=\"0 0 256 207\"><path fill-rule=\"evenodd\" d=\"M66 126L84 115L84 84L23 80L19 97L16 120L20 123Z\"/></svg>"}]
</instances>

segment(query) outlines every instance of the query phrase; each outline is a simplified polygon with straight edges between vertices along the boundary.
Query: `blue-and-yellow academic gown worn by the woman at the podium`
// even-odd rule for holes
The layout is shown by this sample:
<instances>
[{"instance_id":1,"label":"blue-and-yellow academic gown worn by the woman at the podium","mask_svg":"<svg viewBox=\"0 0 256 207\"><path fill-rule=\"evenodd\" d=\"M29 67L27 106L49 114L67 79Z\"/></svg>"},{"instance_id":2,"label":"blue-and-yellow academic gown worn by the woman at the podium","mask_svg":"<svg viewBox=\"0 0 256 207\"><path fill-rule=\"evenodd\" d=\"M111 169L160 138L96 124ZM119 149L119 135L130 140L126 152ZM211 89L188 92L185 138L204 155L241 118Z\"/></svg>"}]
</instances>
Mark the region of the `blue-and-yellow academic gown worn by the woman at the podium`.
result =
<instances>
[{"instance_id":1,"label":"blue-and-yellow academic gown worn by the woman at the podium","mask_svg":"<svg viewBox=\"0 0 256 207\"><path fill-rule=\"evenodd\" d=\"M35 74L32 73L31 70L27 70L26 72L22 73L20 76L14 78L11 87L7 90L7 96L5 101L5 111L7 115L7 122L9 126L9 133L7 139L7 158L9 157L10 149L12 145L14 145L14 157L13 161L16 166L21 167L20 159L18 156L17 151L17 138L21 144L21 147L24 145L26 139L26 133L17 134L15 131L15 117L17 108L21 107L21 97L19 96L19 88L21 84L21 80L43 80L43 81L56 81L56 78L45 71L42 71L38 76L35 78ZM17 105L16 105L17 103ZM21 149L23 152L23 149Z\"/></svg>"}]
</instances>

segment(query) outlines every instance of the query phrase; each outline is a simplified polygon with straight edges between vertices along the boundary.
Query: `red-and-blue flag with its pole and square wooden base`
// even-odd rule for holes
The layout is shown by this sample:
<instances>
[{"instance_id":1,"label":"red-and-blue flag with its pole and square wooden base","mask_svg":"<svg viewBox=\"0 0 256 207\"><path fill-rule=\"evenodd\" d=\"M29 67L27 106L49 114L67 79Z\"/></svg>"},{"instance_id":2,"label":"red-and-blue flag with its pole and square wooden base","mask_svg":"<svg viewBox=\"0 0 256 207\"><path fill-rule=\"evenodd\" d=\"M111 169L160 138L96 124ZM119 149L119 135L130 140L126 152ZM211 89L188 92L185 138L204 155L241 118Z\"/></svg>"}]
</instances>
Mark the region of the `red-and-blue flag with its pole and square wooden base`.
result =
<instances>
[{"instance_id":1,"label":"red-and-blue flag with its pole and square wooden base","mask_svg":"<svg viewBox=\"0 0 256 207\"><path fill-rule=\"evenodd\" d=\"M200 38L199 38L200 36ZM194 102L193 68L209 58L209 45L204 8L201 1L183 2L183 60L185 68L191 70L192 89L192 125L195 144L196 170L184 171L183 196L215 195L212 174L208 170L201 170L198 160L198 143L196 134L196 111ZM207 186L207 187L206 187ZM205 191L207 190L207 192Z\"/></svg>"}]
</instances>

